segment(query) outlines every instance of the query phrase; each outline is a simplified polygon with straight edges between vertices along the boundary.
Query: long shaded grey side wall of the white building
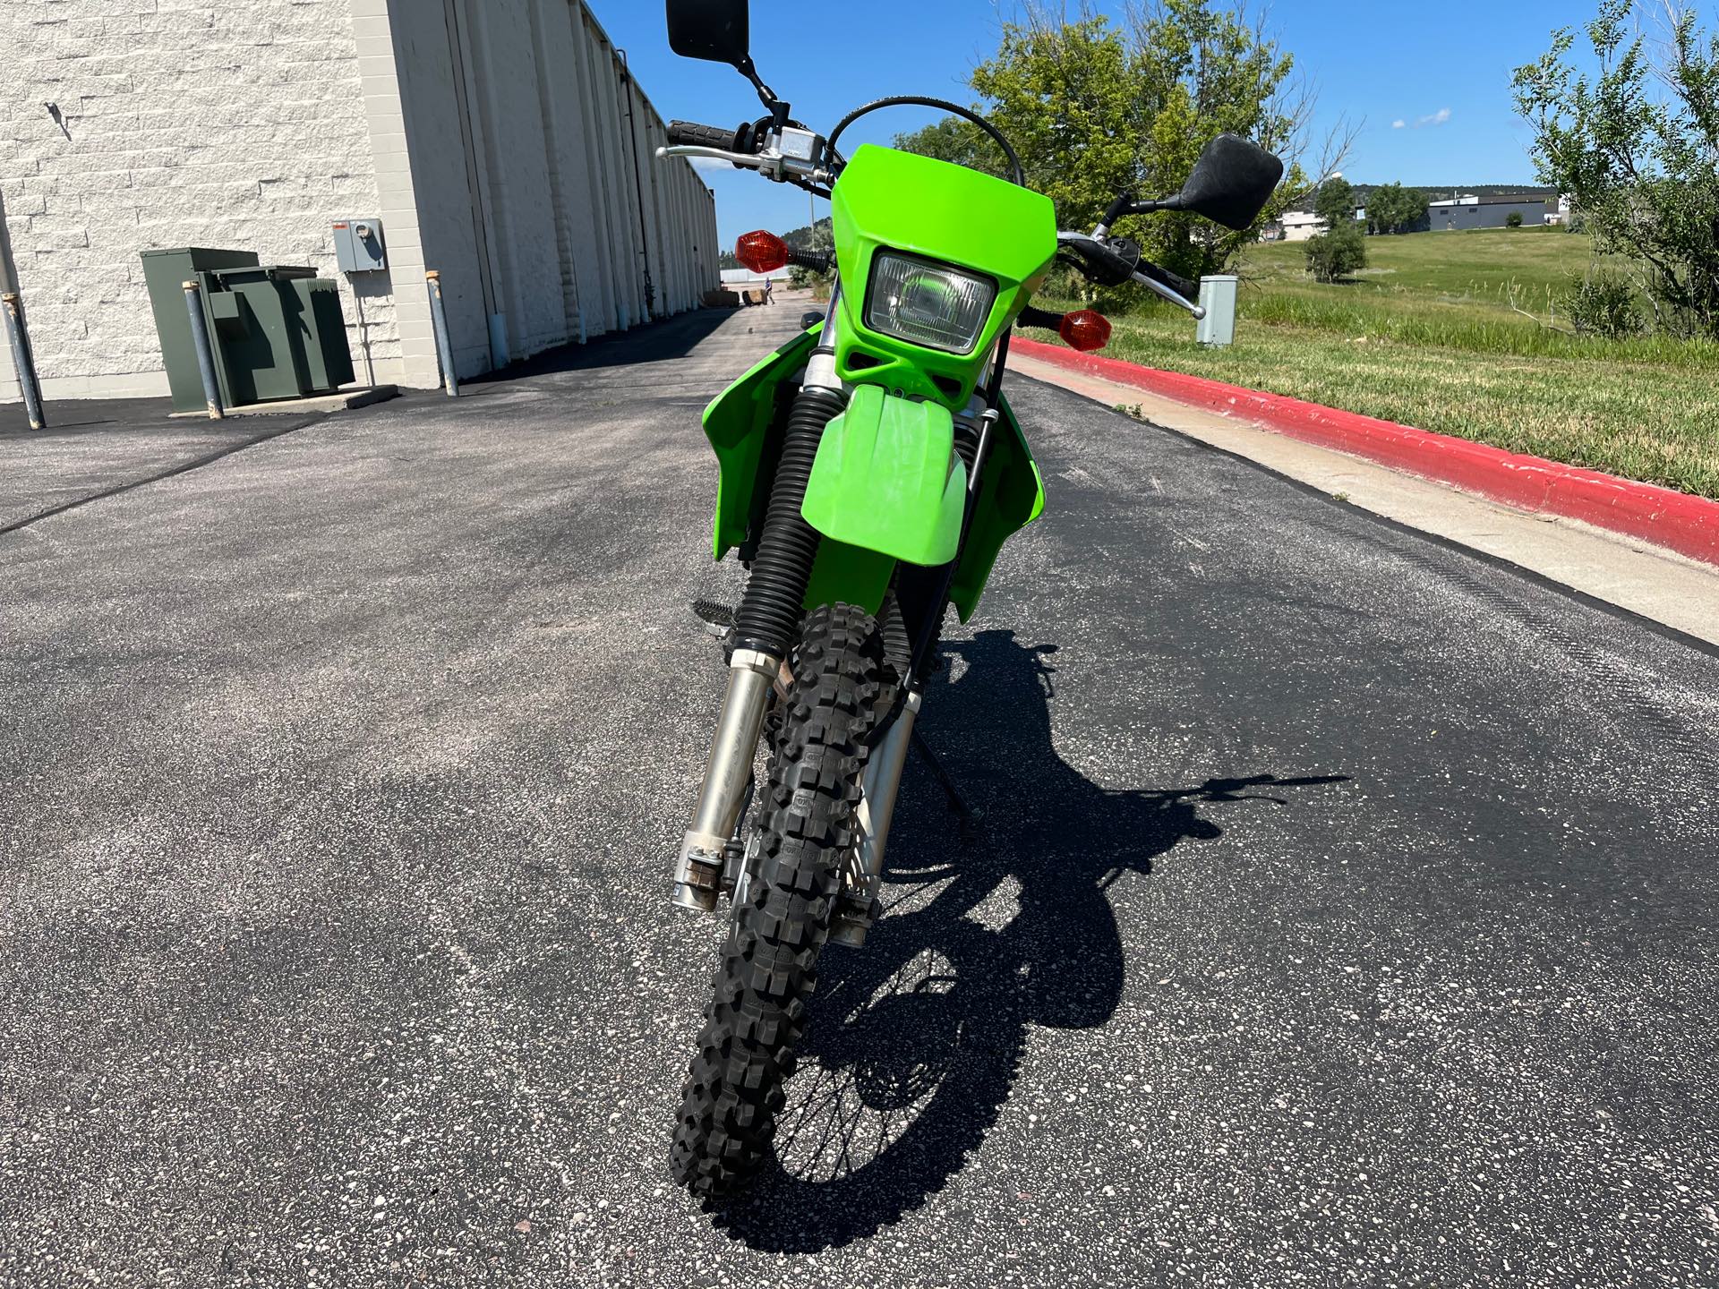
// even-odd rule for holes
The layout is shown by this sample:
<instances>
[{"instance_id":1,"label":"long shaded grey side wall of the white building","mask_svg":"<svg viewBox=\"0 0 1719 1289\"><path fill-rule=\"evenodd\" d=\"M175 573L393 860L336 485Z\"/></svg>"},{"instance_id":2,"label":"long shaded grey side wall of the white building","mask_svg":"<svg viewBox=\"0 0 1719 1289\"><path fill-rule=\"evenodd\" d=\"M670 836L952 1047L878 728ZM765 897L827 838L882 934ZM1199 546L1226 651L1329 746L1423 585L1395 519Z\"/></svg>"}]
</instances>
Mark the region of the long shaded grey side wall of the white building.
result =
<instances>
[{"instance_id":1,"label":"long shaded grey side wall of the white building","mask_svg":"<svg viewBox=\"0 0 1719 1289\"><path fill-rule=\"evenodd\" d=\"M634 162L617 53L579 0L356 2L392 17L421 254L462 378L490 366L490 313L516 359L643 321L641 180L655 313L717 284L710 192L652 155L665 134L643 91Z\"/></svg>"}]
</instances>

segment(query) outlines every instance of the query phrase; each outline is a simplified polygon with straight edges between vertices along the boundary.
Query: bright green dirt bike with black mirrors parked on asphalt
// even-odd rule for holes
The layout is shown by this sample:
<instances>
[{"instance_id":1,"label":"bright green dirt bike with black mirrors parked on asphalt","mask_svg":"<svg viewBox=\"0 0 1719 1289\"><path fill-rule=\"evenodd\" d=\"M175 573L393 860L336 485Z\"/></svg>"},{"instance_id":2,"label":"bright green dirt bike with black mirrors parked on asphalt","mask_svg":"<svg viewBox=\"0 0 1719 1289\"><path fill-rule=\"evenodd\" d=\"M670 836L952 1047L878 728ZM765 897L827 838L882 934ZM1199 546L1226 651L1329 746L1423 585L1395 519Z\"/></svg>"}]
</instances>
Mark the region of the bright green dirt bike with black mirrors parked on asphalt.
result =
<instances>
[{"instance_id":1,"label":"bright green dirt bike with black mirrors parked on asphalt","mask_svg":"<svg viewBox=\"0 0 1719 1289\"><path fill-rule=\"evenodd\" d=\"M732 907L674 1131L670 1169L696 1194L741 1189L765 1162L825 944L861 945L878 914L884 846L925 677L949 605L971 617L1002 543L1038 517L1043 483L1002 397L1014 327L1098 349L1097 313L1028 302L1062 260L1098 285L1138 282L1195 316L1198 289L1109 235L1124 213L1183 210L1231 229L1258 218L1282 163L1234 136L1207 146L1181 192L1123 194L1092 232L1057 232L1009 141L935 98L885 98L820 136L749 57L746 0L669 0L676 53L734 65L767 113L737 129L669 127L658 156L705 156L830 199L830 256L767 232L753 272L835 270L823 321L705 411L717 452L715 555L749 567L727 622L727 694L674 902ZM884 107L973 122L1012 182L889 148L837 150ZM768 734L768 770L753 758ZM755 801L756 797L756 801ZM751 816L751 818L748 818Z\"/></svg>"}]
</instances>

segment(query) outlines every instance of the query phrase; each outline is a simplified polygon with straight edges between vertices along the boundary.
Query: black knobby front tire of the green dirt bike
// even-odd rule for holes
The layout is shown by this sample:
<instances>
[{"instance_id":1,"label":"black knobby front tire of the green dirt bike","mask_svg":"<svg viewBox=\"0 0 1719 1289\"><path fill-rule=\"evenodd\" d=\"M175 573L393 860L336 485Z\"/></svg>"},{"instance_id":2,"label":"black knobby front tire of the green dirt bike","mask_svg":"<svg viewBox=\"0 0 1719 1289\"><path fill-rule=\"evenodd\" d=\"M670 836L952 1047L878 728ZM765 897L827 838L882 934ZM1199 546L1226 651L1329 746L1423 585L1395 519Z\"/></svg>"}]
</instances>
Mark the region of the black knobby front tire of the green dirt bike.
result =
<instances>
[{"instance_id":1,"label":"black knobby front tire of the green dirt bike","mask_svg":"<svg viewBox=\"0 0 1719 1289\"><path fill-rule=\"evenodd\" d=\"M674 1179L712 1200L751 1181L775 1136L842 864L858 840L866 739L892 675L877 624L853 605L806 619L792 669L749 880L734 904L669 1153Z\"/></svg>"}]
</instances>

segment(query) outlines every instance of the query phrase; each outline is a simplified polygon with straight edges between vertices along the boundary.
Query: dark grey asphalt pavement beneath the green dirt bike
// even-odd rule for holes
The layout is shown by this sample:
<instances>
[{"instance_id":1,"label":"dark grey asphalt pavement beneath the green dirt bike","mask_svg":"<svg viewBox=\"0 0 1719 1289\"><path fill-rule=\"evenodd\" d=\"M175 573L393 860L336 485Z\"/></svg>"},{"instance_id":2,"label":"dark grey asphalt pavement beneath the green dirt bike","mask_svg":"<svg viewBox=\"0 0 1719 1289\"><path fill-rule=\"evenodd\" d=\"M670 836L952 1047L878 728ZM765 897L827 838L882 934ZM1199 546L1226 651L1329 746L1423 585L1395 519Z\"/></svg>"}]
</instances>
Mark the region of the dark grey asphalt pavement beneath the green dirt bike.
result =
<instances>
[{"instance_id":1,"label":"dark grey asphalt pavement beneath the green dirt bike","mask_svg":"<svg viewBox=\"0 0 1719 1289\"><path fill-rule=\"evenodd\" d=\"M796 318L10 476L0 1284L1719 1282L1719 657L1023 378L978 818L909 760L779 1162L669 1184L698 411Z\"/></svg>"}]
</instances>

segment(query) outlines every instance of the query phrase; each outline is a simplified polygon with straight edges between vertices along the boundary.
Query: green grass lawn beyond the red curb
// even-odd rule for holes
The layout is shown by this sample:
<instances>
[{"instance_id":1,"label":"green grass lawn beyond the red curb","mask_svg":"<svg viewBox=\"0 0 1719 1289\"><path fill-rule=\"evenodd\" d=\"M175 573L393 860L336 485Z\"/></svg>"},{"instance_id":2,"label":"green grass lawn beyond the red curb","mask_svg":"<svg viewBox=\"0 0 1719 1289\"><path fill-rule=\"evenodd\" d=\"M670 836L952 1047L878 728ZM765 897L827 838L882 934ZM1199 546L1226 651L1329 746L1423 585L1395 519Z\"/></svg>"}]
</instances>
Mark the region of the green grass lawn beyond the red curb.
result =
<instances>
[{"instance_id":1,"label":"green grass lawn beyond the red curb","mask_svg":"<svg viewBox=\"0 0 1719 1289\"><path fill-rule=\"evenodd\" d=\"M1355 282L1322 285L1301 244L1251 247L1231 349L1147 306L1112 318L1105 352L1719 498L1719 345L1545 325L1564 325L1587 237L1427 232L1367 251Z\"/></svg>"}]
</instances>

